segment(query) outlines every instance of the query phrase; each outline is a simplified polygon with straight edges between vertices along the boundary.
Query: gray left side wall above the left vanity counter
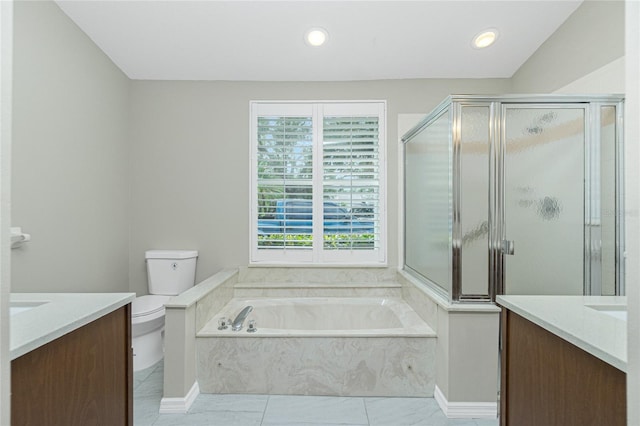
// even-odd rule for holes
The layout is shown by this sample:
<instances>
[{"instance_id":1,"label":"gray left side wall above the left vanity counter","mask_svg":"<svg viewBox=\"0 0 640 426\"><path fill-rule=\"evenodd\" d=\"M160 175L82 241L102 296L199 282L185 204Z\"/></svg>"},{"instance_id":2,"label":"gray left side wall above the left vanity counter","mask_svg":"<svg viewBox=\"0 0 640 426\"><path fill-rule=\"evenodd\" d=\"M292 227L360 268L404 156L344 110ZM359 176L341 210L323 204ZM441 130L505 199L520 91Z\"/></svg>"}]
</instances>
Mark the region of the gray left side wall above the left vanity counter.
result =
<instances>
[{"instance_id":1,"label":"gray left side wall above the left vanity counter","mask_svg":"<svg viewBox=\"0 0 640 426\"><path fill-rule=\"evenodd\" d=\"M128 290L129 79L50 1L15 3L14 292Z\"/></svg>"}]
</instances>

